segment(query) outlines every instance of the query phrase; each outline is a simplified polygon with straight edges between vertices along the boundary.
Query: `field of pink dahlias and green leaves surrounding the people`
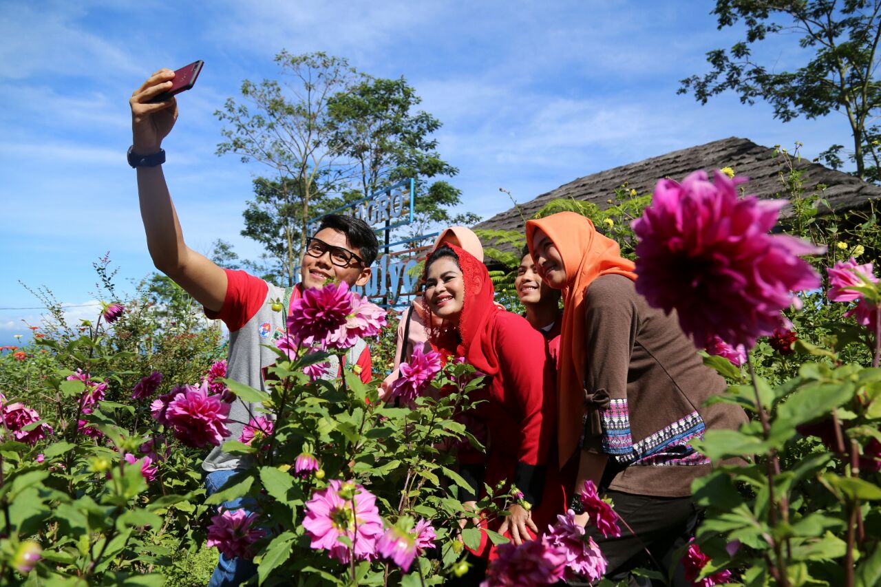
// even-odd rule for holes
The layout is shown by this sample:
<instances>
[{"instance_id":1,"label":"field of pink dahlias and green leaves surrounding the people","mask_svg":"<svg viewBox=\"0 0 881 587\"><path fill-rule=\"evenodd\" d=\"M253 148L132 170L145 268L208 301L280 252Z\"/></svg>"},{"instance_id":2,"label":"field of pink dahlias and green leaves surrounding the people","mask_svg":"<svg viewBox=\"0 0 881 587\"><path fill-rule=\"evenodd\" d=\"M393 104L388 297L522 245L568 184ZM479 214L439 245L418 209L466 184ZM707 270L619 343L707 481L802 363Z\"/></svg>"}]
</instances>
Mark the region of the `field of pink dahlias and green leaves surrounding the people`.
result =
<instances>
[{"instance_id":1,"label":"field of pink dahlias and green leaves surrounding the people","mask_svg":"<svg viewBox=\"0 0 881 587\"><path fill-rule=\"evenodd\" d=\"M640 294L677 311L730 383L718 400L751 416L692 441L718 466L692 487L706 517L682 549L686 579L874 585L881 232L873 211L820 215L822 193L804 194L797 172L784 179L795 212L783 233L769 234L782 204L744 196L749 184L722 172L659 182L632 227L633 206L594 220L636 243ZM0 351L0 583L204 584L218 553L253 557L264 585L469 572L465 546L482 531L457 498L468 484L456 451L485 442L467 424L482 374L420 352L381 398L396 316L329 284L293 302L256 390L226 377L226 346L199 308L146 291L119 300L107 260L96 266L100 315L68 324L48 298L46 322ZM372 346L368 383L344 359L359 338ZM230 416L237 398L256 406L247 421ZM215 447L247 466L209 494L201 464ZM487 493L478 506L492 517L519 492ZM224 506L236 500L243 509ZM626 530L592 484L581 502L603 535ZM599 580L605 559L572 512L542 530L522 546L485 531L499 548L484 584ZM638 572L666 582L674 571Z\"/></svg>"}]
</instances>

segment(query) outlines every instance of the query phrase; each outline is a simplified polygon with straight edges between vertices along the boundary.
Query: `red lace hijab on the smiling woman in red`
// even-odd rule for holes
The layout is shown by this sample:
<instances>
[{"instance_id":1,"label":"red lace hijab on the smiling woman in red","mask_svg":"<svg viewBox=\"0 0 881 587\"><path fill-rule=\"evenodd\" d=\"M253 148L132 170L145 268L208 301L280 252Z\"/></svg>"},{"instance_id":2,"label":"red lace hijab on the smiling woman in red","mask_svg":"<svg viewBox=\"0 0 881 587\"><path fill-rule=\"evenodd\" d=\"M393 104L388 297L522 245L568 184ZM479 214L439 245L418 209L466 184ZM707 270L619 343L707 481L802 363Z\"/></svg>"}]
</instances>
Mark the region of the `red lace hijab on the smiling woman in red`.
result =
<instances>
[{"instance_id":1,"label":"red lace hijab on the smiling woman in red","mask_svg":"<svg viewBox=\"0 0 881 587\"><path fill-rule=\"evenodd\" d=\"M428 302L422 301L423 323L432 348L441 353L443 360L449 356L464 357L465 360L486 375L499 372L499 355L492 345L490 336L493 316L500 308L495 305L495 288L492 286L486 265L478 261L468 251L445 243L436 250L450 249L462 270L464 298L459 320L453 323L429 316ZM428 264L423 279L428 276ZM433 318L433 319L431 319ZM430 326L429 326L430 324Z\"/></svg>"}]
</instances>

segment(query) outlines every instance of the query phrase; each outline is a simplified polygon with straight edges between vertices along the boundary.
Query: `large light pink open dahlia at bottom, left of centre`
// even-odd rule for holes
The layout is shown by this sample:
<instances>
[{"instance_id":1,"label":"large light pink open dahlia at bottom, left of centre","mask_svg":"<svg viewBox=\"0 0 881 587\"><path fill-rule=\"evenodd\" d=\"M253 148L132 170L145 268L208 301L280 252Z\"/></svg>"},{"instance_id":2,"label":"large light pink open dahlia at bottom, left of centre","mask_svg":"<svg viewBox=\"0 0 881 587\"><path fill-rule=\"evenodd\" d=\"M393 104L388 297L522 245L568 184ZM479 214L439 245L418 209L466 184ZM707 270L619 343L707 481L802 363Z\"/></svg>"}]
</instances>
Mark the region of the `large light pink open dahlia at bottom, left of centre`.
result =
<instances>
[{"instance_id":1,"label":"large light pink open dahlia at bottom, left of centre","mask_svg":"<svg viewBox=\"0 0 881 587\"><path fill-rule=\"evenodd\" d=\"M382 518L374 494L361 485L333 479L306 502L303 528L312 539L312 548L328 551L337 561L346 564L350 560L349 547L339 541L343 536L352 541L356 559L371 561L382 535Z\"/></svg>"}]
</instances>

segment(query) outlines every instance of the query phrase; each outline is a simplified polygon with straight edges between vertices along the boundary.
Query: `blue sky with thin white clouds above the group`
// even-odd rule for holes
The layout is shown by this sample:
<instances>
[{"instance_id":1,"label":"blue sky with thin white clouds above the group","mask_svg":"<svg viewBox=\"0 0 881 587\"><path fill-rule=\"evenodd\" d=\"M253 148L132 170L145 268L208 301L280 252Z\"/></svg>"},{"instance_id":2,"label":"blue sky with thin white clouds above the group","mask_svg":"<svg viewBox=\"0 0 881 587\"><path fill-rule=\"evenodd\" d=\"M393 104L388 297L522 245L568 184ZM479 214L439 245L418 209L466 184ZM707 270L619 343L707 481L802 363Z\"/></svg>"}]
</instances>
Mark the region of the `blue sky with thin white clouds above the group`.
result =
<instances>
[{"instance_id":1,"label":"blue sky with thin white clouds above the group","mask_svg":"<svg viewBox=\"0 0 881 587\"><path fill-rule=\"evenodd\" d=\"M300 2L137 3L0 0L0 345L39 323L19 285L46 286L93 316L93 261L110 252L122 289L152 271L137 208L128 97L152 71L203 59L164 146L190 247L242 238L241 211L259 167L214 154L213 116L244 78L277 75L272 57L326 51L376 77L404 76L437 116L441 155L460 169L463 208L484 218L581 175L722 137L804 143L809 157L848 145L841 115L775 121L763 104L722 96L701 107L678 80L737 41L714 3ZM796 38L760 56L797 63ZM6 309L13 308L13 309ZM19 309L20 308L20 309Z\"/></svg>"}]
</instances>

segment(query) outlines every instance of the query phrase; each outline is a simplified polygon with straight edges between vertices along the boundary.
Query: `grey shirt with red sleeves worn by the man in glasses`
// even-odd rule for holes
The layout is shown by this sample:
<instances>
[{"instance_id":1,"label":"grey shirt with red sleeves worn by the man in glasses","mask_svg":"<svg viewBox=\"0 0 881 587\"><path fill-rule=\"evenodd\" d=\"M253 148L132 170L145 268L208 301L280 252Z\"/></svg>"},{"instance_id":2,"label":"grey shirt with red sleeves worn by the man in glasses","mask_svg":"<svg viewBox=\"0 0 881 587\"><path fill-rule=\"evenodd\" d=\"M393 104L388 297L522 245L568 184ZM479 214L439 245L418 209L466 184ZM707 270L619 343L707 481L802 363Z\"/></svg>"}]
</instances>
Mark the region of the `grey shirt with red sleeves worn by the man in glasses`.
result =
<instances>
[{"instance_id":1,"label":"grey shirt with red sleeves worn by the man in glasses","mask_svg":"<svg viewBox=\"0 0 881 587\"><path fill-rule=\"evenodd\" d=\"M278 360L278 355L267 346L273 346L278 338L285 335L287 315L291 312L293 301L302 296L302 284L294 286L290 292L290 302L284 311L272 309L273 300L284 300L284 287L273 286L263 279L250 275L247 271L226 271L226 298L219 312L205 309L205 316L223 320L229 329L229 357L226 376L245 383L257 390L267 390L264 381L266 368ZM359 338L355 346L345 356L345 361L361 368L361 381L367 383L373 378L370 349ZM337 357L329 358L329 378L340 373ZM249 404L236 399L230 407L227 428L231 435L228 440L237 440L248 420L263 415L259 404ZM220 447L215 447L205 458L202 468L207 472L245 469L250 465L248 459L231 455Z\"/></svg>"}]
</instances>

